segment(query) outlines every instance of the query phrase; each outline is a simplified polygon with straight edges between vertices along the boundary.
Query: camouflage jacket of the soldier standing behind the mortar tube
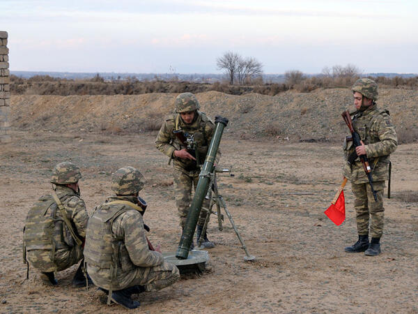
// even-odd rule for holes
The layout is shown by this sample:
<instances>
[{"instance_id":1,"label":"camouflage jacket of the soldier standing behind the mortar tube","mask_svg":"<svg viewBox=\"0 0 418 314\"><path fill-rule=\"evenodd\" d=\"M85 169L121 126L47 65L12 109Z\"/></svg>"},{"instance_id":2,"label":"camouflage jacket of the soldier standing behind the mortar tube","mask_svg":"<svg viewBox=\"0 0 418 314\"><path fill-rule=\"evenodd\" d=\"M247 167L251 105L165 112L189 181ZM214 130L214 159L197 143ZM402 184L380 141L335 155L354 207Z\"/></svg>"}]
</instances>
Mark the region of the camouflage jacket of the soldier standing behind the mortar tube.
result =
<instances>
[{"instance_id":1,"label":"camouflage jacket of the soldier standing behind the mortar tube","mask_svg":"<svg viewBox=\"0 0 418 314\"><path fill-rule=\"evenodd\" d=\"M175 150L185 148L185 146L174 135L173 130L183 130L189 134L194 135L196 146L198 147L199 161L202 165L205 161L206 154L212 135L215 132L215 124L204 114L203 112L197 112L197 117L192 124L185 124L180 117L180 114L169 114L164 124L160 128L160 132L155 140L155 147L163 154L173 158L174 167L177 170L185 170L186 172L196 170L199 167L196 166L194 160L188 160L183 158L176 158L173 154ZM221 152L218 149L217 160L219 160Z\"/></svg>"}]
</instances>

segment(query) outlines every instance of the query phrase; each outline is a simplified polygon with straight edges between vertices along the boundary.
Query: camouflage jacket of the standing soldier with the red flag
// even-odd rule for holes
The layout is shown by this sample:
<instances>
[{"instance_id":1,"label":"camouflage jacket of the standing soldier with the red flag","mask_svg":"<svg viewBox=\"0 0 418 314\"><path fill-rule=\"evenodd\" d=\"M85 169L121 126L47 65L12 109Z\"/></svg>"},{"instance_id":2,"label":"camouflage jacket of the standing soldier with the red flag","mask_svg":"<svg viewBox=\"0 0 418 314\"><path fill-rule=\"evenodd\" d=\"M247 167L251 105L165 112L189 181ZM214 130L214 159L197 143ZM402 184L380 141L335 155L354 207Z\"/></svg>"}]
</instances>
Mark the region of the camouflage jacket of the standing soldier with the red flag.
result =
<instances>
[{"instance_id":1,"label":"camouflage jacket of the standing soldier with the red flag","mask_svg":"<svg viewBox=\"0 0 418 314\"><path fill-rule=\"evenodd\" d=\"M379 110L377 105L357 111L353 115L353 127L359 133L360 139L366 147L366 156L372 167L373 181L385 181L388 179L389 155L397 145L396 131L390 119L389 112ZM346 158L354 151L353 142L344 142ZM343 167L343 174L355 184L369 182L363 170L362 162L357 158L355 164L348 163Z\"/></svg>"}]
</instances>

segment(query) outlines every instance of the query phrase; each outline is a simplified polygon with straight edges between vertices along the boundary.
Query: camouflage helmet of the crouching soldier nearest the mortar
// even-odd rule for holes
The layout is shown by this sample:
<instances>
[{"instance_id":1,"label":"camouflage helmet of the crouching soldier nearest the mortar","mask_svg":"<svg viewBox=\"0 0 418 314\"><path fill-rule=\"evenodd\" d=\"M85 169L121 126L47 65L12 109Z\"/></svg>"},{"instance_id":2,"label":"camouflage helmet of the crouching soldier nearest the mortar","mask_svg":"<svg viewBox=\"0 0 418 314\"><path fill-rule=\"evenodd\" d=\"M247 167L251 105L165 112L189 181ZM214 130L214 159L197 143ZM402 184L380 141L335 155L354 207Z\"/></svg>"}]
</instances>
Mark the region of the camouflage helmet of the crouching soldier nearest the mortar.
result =
<instances>
[{"instance_id":1,"label":"camouflage helmet of the crouching soldier nearest the mortar","mask_svg":"<svg viewBox=\"0 0 418 314\"><path fill-rule=\"evenodd\" d=\"M111 190L116 195L134 195L144 188L145 179L134 167L123 167L111 178Z\"/></svg>"}]
</instances>

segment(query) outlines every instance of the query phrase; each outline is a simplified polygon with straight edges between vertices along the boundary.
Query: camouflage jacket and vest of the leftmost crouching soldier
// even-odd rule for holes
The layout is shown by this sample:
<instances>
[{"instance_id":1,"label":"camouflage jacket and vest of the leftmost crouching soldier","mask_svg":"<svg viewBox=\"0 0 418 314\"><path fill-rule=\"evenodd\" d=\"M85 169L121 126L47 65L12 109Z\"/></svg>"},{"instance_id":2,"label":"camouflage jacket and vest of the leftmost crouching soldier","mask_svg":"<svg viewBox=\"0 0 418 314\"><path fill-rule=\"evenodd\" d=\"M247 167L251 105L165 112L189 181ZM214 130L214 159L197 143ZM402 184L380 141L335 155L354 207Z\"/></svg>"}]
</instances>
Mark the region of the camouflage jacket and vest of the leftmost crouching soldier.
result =
<instances>
[{"instance_id":1,"label":"camouflage jacket and vest of the leftmost crouching soldier","mask_svg":"<svg viewBox=\"0 0 418 314\"><path fill-rule=\"evenodd\" d=\"M79 237L86 237L86 226L88 222L88 214L86 211L86 204L75 193L72 188L66 186L56 186L56 195L61 200L66 212L66 216L72 225L72 229ZM40 197L34 207L45 206L45 215L51 216L54 220L54 231L52 232L53 239L46 239L49 235L45 234L42 227L39 229L38 237L40 239L33 239L34 233L30 232L31 218L26 218L24 241L26 244L26 257L31 262L33 267L41 271L54 271L61 269L60 265L56 264L56 260L65 260L70 251L76 246L74 239L70 234L70 230L65 225L56 203L51 195ZM33 230L36 231L36 230ZM49 242L50 241L50 242ZM50 244L48 244L49 242ZM43 248L42 248L43 247ZM54 266L53 266L54 265ZM54 269L52 269L54 268Z\"/></svg>"}]
</instances>

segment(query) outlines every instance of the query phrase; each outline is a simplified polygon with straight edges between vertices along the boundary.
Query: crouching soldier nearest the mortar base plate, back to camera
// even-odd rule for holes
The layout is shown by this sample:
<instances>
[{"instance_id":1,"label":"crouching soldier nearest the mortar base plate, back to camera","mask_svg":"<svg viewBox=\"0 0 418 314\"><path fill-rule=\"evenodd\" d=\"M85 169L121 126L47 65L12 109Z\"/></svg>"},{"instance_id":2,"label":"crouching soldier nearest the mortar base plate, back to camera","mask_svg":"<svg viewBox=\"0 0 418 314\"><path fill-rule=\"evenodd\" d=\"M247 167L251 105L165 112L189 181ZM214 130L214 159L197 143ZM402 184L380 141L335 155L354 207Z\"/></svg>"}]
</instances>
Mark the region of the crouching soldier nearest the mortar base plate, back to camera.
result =
<instances>
[{"instance_id":1,"label":"crouching soldier nearest the mortar base plate, back to camera","mask_svg":"<svg viewBox=\"0 0 418 314\"><path fill-rule=\"evenodd\" d=\"M84 255L88 274L100 290L125 308L137 308L132 294L160 290L180 278L177 267L151 251L145 235L144 201L139 191L144 177L134 167L123 167L112 177L116 194L97 207L88 221Z\"/></svg>"}]
</instances>

